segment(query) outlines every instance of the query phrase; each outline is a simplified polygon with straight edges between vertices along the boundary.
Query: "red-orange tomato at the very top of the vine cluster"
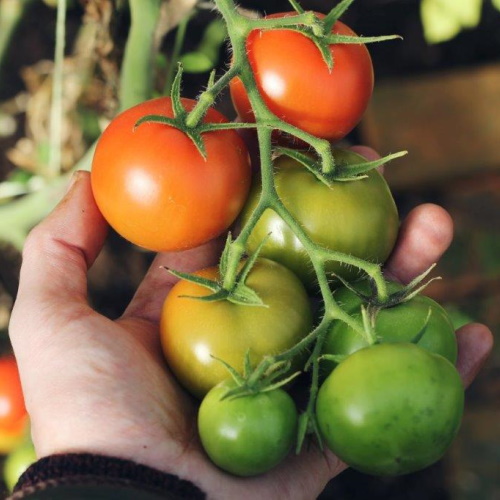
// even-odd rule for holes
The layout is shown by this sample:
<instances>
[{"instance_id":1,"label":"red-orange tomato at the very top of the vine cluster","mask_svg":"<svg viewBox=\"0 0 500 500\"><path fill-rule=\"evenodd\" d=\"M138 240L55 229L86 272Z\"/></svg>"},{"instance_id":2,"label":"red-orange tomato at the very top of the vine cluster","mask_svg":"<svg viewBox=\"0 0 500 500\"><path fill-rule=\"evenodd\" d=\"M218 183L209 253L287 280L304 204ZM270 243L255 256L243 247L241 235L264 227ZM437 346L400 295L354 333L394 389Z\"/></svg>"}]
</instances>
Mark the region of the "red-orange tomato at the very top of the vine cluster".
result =
<instances>
[{"instance_id":1,"label":"red-orange tomato at the very top of the vine cluster","mask_svg":"<svg viewBox=\"0 0 500 500\"><path fill-rule=\"evenodd\" d=\"M296 12L269 17L296 15ZM322 14L316 14L323 17ZM356 34L337 21L332 33ZM247 54L257 88L267 107L280 119L316 137L338 141L361 119L373 91L373 66L363 44L330 46L333 70L314 42L288 29L254 30ZM243 83L235 78L231 97L243 121L255 121Z\"/></svg>"}]
</instances>

